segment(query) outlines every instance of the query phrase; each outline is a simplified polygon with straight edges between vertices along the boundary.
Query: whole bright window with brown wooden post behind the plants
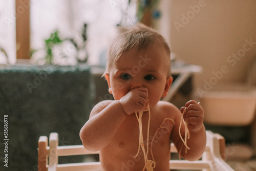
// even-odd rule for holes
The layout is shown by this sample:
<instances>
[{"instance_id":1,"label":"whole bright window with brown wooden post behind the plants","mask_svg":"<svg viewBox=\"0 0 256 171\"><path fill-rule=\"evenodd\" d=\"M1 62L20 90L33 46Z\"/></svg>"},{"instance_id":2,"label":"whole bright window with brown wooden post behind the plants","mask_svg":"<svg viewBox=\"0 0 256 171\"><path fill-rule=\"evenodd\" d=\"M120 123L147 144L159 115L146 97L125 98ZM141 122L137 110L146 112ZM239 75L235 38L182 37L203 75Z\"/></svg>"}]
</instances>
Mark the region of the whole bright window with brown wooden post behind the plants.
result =
<instances>
[{"instance_id":1,"label":"whole bright window with brown wooden post behind the plants","mask_svg":"<svg viewBox=\"0 0 256 171\"><path fill-rule=\"evenodd\" d=\"M79 40L87 24L88 61L92 65L104 64L116 25L121 20L134 22L135 14L136 1L129 0L0 0L0 63L14 64L16 57L29 58L28 51L44 49L44 40L55 30L62 38ZM34 54L33 58L40 55Z\"/></svg>"}]
</instances>

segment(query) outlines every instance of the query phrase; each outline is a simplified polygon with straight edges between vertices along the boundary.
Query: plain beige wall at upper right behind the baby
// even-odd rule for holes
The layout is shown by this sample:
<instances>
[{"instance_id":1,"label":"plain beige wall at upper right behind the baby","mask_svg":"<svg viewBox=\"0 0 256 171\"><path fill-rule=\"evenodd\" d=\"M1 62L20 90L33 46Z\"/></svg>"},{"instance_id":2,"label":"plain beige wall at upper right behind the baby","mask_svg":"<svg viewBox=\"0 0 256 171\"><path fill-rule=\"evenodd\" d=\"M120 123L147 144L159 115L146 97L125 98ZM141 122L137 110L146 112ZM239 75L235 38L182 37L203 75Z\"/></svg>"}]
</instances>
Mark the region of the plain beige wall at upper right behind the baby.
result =
<instances>
[{"instance_id":1,"label":"plain beige wall at upper right behind the baby","mask_svg":"<svg viewBox=\"0 0 256 171\"><path fill-rule=\"evenodd\" d=\"M205 82L246 80L256 57L256 1L163 0L160 8L157 29L172 52L203 67L195 77L196 87L203 89Z\"/></svg>"}]
</instances>

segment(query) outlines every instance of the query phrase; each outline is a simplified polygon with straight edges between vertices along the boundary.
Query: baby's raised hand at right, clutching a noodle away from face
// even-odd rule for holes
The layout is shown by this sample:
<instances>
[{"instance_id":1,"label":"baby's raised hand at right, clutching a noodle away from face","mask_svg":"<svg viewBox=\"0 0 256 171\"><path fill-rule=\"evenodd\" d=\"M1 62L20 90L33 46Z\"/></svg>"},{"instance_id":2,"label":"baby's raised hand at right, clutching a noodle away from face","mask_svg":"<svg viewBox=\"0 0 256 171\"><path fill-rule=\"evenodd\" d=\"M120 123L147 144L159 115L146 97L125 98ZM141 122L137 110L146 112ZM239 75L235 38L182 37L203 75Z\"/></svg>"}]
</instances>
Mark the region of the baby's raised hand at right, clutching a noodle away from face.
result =
<instances>
[{"instance_id":1,"label":"baby's raised hand at right, clutching a noodle away from face","mask_svg":"<svg viewBox=\"0 0 256 171\"><path fill-rule=\"evenodd\" d=\"M184 120L188 123L187 128L191 132L199 131L203 125L204 110L200 104L195 100L190 100L185 104L185 107L180 109L181 113L186 111L183 115Z\"/></svg>"}]
</instances>

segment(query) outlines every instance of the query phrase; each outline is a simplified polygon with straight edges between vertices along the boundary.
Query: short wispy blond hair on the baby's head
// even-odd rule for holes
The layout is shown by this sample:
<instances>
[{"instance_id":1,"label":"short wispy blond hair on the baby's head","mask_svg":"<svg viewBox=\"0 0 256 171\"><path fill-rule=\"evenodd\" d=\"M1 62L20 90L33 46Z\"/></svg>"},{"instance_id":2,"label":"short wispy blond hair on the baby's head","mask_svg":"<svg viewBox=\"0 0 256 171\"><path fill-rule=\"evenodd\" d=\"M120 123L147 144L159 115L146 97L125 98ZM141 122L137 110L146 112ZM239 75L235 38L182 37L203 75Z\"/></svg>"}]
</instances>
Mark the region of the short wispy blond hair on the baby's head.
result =
<instances>
[{"instance_id":1,"label":"short wispy blond hair on the baby's head","mask_svg":"<svg viewBox=\"0 0 256 171\"><path fill-rule=\"evenodd\" d=\"M156 30L147 27L143 24L135 24L131 27L119 27L119 34L112 41L107 53L106 73L109 73L110 68L123 56L123 54L132 49L138 48L146 49L148 46L154 44L156 40L160 40L166 50L167 56L170 56L170 49L161 34Z\"/></svg>"}]
</instances>

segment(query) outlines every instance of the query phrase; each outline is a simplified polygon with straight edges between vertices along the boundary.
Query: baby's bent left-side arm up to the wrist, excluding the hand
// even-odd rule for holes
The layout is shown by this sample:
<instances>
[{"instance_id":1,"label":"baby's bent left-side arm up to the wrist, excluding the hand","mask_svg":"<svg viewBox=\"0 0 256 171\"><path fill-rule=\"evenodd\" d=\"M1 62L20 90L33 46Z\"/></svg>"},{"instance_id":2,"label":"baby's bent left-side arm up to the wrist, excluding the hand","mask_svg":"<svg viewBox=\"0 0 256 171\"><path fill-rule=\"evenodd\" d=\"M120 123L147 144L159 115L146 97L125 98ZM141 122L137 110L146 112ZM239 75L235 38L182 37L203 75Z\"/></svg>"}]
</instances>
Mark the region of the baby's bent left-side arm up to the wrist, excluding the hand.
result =
<instances>
[{"instance_id":1,"label":"baby's bent left-side arm up to the wrist, excluding the hand","mask_svg":"<svg viewBox=\"0 0 256 171\"><path fill-rule=\"evenodd\" d=\"M90 119L80 131L83 146L90 151L99 151L105 147L125 117L119 100L101 101L96 104Z\"/></svg>"}]
</instances>

